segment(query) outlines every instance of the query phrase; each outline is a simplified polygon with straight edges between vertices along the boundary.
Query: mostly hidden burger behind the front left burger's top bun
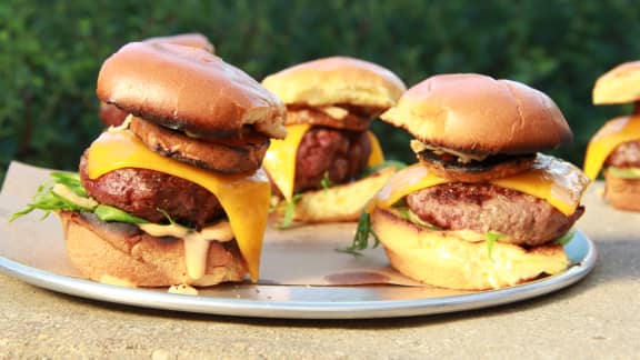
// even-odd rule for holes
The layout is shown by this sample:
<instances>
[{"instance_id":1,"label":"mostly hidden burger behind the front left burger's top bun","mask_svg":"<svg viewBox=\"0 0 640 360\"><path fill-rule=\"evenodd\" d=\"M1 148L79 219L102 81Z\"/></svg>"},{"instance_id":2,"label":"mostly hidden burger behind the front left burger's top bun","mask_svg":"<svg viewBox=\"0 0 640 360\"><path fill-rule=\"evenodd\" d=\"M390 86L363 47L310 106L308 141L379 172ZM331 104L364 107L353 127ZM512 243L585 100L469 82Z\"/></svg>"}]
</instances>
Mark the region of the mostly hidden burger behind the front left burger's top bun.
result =
<instances>
[{"instance_id":1,"label":"mostly hidden burger behind the front left burger's top bun","mask_svg":"<svg viewBox=\"0 0 640 360\"><path fill-rule=\"evenodd\" d=\"M216 48L213 48L213 44L211 44L211 42L209 42L209 39L207 39L207 37L204 37L203 34L197 33L197 32L180 33L180 34L174 34L174 36L170 36L170 37L149 38L149 39L144 40L144 42L148 42L148 43L174 43L174 44L181 44L181 46L186 46L186 47L198 48L198 49L209 51L211 53L216 53ZM106 103L104 101L100 101L99 114L100 114L100 120L102 120L102 123L104 123L107 127L118 127L122 122L124 122L124 119L127 118L127 116L129 116L127 112L120 110L114 104L109 104L109 103Z\"/></svg>"}]
</instances>

